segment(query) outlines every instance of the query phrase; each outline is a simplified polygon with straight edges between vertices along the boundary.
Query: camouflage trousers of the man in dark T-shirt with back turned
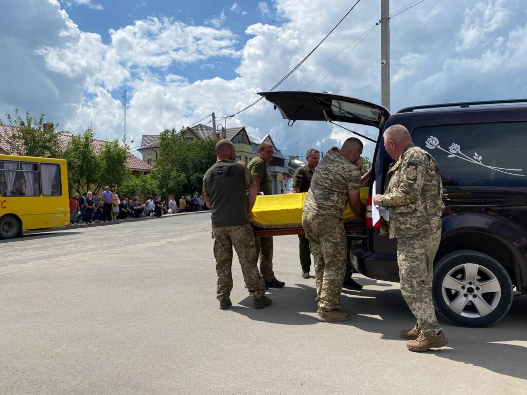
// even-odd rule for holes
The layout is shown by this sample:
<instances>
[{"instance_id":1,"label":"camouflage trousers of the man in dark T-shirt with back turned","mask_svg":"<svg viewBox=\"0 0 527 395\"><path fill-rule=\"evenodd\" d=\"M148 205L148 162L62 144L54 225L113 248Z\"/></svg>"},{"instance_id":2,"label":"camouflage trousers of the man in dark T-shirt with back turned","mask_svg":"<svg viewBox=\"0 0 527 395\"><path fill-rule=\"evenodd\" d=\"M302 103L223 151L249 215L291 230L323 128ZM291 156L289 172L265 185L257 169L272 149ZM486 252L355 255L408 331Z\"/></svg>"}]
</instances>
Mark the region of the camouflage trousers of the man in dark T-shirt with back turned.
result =
<instances>
[{"instance_id":1,"label":"camouflage trousers of the man in dark T-shirt with back turned","mask_svg":"<svg viewBox=\"0 0 527 395\"><path fill-rule=\"evenodd\" d=\"M261 299L265 294L264 279L256 265L255 237L251 225L220 226L214 232L214 258L218 285L217 299L229 299L232 291L232 246L238 254L243 280L253 299Z\"/></svg>"}]
</instances>

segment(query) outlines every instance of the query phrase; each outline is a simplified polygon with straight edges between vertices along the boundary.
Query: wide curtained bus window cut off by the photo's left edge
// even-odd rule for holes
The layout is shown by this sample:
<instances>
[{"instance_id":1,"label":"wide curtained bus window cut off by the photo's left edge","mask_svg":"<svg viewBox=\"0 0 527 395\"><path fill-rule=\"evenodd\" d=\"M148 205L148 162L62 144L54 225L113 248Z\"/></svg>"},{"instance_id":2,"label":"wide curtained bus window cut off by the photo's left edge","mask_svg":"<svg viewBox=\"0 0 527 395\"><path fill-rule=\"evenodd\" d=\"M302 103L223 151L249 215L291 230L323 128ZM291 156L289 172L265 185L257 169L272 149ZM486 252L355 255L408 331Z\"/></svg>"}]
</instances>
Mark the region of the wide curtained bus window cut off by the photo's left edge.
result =
<instances>
[{"instance_id":1,"label":"wide curtained bus window cut off by the photo's left edge","mask_svg":"<svg viewBox=\"0 0 527 395\"><path fill-rule=\"evenodd\" d=\"M0 194L2 196L39 196L38 164L1 161Z\"/></svg>"}]
</instances>

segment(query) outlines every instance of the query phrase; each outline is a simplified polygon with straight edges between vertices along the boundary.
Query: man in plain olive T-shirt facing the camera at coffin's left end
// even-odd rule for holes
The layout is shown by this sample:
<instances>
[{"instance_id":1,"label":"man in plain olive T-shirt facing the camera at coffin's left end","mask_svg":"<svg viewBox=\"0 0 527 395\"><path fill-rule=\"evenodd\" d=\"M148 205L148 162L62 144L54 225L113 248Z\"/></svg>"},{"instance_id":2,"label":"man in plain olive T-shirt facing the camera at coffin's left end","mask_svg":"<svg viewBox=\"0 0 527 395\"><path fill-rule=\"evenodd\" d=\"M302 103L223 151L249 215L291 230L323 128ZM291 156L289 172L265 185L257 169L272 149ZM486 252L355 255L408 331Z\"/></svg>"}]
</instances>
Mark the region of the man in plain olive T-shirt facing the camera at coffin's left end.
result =
<instances>
[{"instance_id":1,"label":"man in plain olive T-shirt facing the camera at coffin's left end","mask_svg":"<svg viewBox=\"0 0 527 395\"><path fill-rule=\"evenodd\" d=\"M267 164L271 162L274 152L275 149L271 144L261 143L258 145L258 156L253 157L247 165L256 182L258 193L263 192L264 195L272 195L272 179ZM286 283L278 281L272 271L272 237L256 238L256 250L259 252L260 273L264 277L266 286L284 287Z\"/></svg>"}]
</instances>

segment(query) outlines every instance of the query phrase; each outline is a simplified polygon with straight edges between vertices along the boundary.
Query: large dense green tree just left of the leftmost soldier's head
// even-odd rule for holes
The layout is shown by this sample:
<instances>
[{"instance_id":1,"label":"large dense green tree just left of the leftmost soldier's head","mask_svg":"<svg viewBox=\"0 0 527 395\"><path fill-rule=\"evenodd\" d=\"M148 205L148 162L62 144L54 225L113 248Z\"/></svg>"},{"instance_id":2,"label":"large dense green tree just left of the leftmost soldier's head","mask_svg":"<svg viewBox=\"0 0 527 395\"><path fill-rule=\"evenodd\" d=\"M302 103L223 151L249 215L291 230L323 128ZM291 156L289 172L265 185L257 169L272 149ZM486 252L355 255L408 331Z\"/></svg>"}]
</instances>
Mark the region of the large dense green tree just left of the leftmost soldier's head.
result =
<instances>
[{"instance_id":1,"label":"large dense green tree just left of the leftmost soldier's head","mask_svg":"<svg viewBox=\"0 0 527 395\"><path fill-rule=\"evenodd\" d=\"M186 142L185 134L182 130L178 135L172 129L160 135L159 160L153 176L158 180L159 191L163 195L179 196L201 191L203 175L216 162L216 140Z\"/></svg>"}]
</instances>

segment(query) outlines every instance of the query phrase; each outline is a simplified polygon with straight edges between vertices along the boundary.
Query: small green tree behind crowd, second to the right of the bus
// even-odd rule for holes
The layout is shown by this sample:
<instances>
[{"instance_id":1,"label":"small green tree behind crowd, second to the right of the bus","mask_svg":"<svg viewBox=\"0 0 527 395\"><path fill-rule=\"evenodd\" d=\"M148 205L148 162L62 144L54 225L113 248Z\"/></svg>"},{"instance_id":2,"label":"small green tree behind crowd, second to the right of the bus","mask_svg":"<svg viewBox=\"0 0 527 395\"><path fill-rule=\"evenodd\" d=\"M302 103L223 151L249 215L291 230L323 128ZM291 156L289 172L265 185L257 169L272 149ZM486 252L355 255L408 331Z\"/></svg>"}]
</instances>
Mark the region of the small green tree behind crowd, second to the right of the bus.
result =
<instances>
[{"instance_id":1,"label":"small green tree behind crowd, second to the right of the bus","mask_svg":"<svg viewBox=\"0 0 527 395\"><path fill-rule=\"evenodd\" d=\"M102 185L117 186L124 183L130 175L130 169L126 165L126 147L119 145L117 140L108 142L104 145L97 160L101 168L99 176L99 185L95 191L98 191Z\"/></svg>"}]
</instances>

